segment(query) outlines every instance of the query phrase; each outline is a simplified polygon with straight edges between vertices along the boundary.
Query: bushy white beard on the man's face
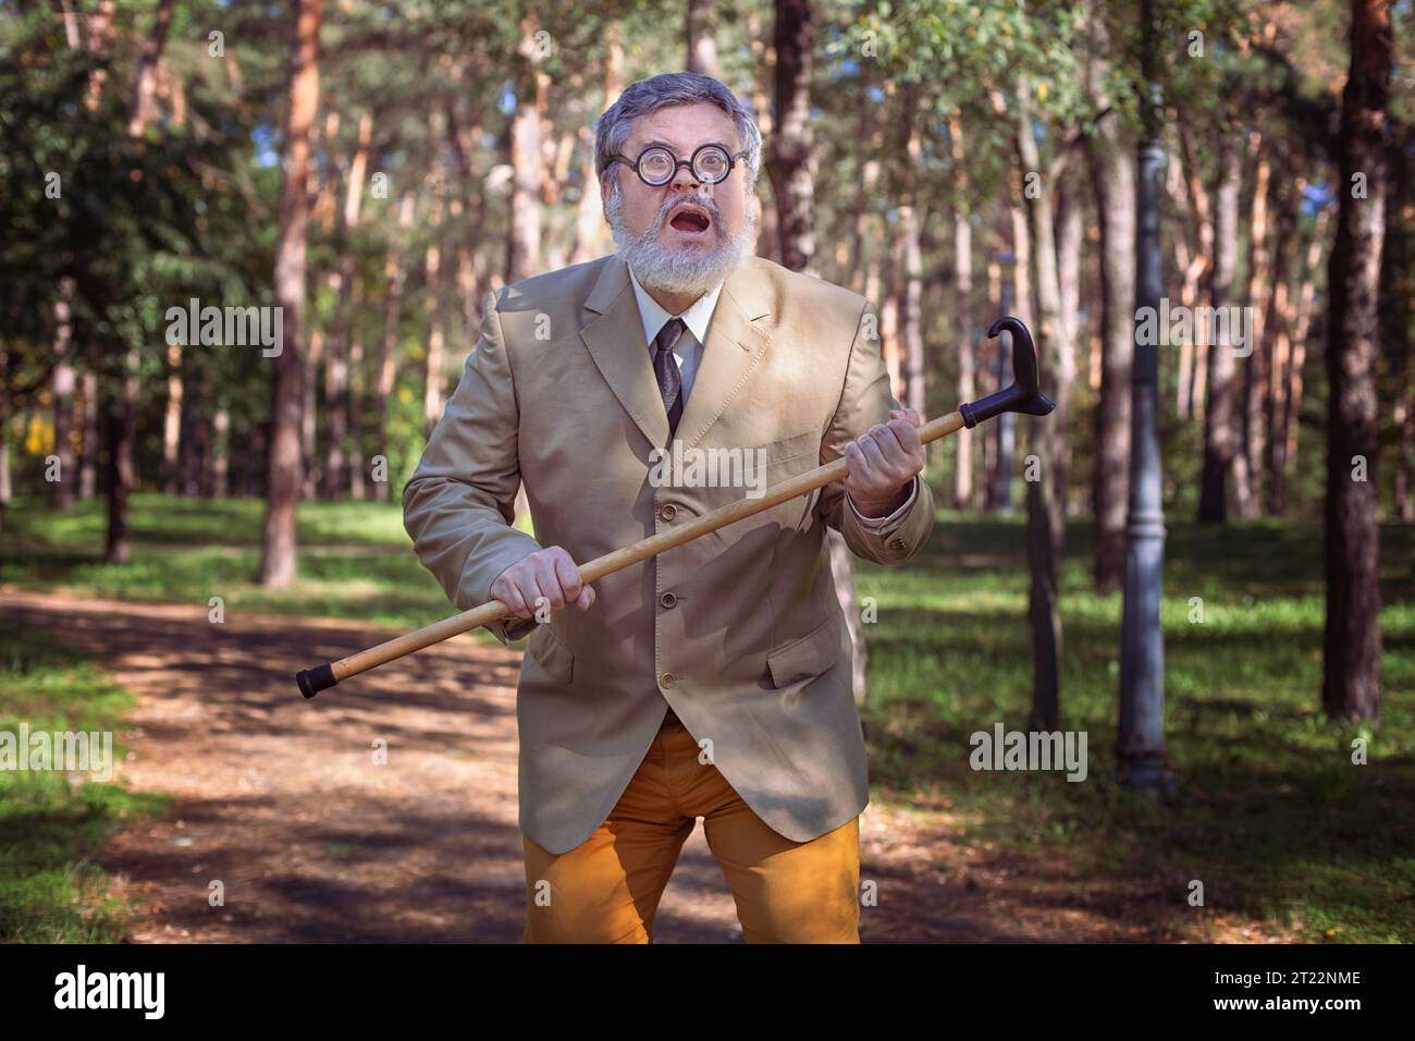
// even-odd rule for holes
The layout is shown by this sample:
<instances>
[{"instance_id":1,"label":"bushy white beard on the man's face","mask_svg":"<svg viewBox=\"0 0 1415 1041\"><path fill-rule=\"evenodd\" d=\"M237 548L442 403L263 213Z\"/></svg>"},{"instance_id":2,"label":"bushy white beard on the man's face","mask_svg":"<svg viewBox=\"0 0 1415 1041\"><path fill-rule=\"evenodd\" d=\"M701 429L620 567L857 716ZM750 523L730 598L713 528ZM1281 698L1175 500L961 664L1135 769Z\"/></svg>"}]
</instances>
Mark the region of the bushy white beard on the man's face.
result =
<instances>
[{"instance_id":1,"label":"bushy white beard on the man's face","mask_svg":"<svg viewBox=\"0 0 1415 1041\"><path fill-rule=\"evenodd\" d=\"M724 239L717 231L719 242L715 246L669 249L662 245L658 232L662 229L664 218L669 210L688 198L702 204L712 214L715 229L722 228L717 207L710 200L703 195L674 195L664 200L662 208L642 235L633 235L624 224L624 193L617 184L610 188L604 211L614 235L616 252L634 269L634 276L644 286L668 293L706 293L751 255L751 232L756 228L756 210L751 205L747 207L747 220L734 238Z\"/></svg>"}]
</instances>

